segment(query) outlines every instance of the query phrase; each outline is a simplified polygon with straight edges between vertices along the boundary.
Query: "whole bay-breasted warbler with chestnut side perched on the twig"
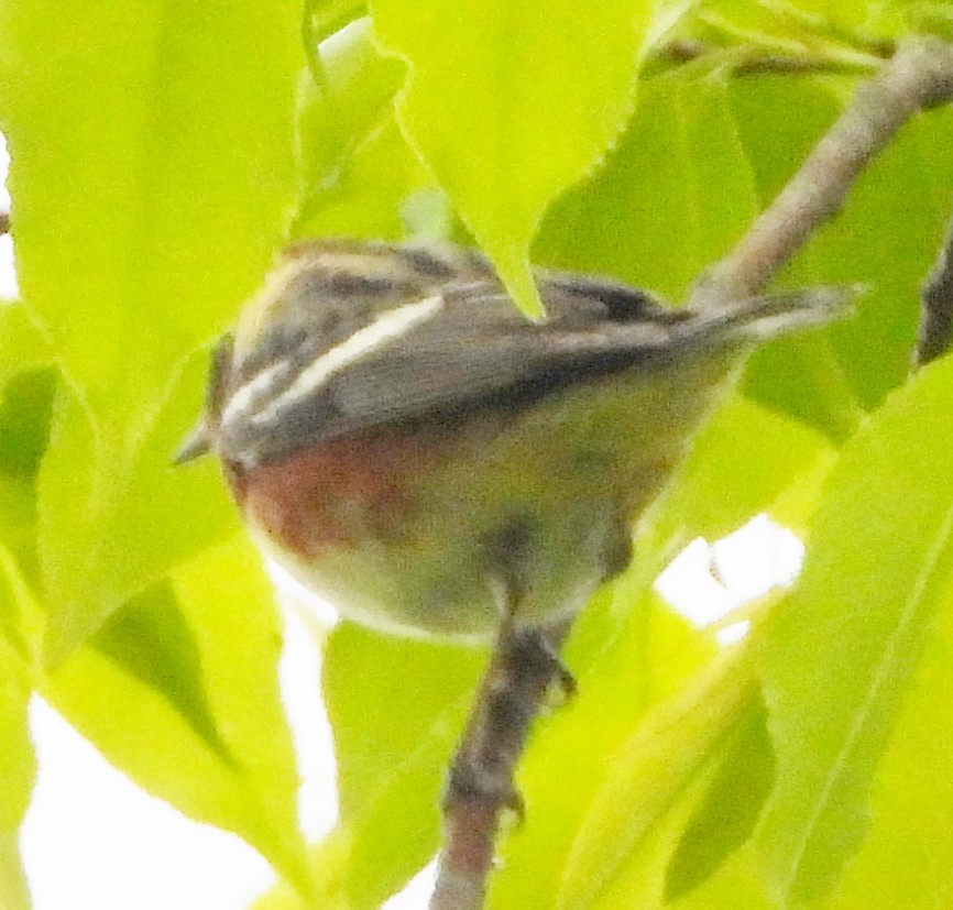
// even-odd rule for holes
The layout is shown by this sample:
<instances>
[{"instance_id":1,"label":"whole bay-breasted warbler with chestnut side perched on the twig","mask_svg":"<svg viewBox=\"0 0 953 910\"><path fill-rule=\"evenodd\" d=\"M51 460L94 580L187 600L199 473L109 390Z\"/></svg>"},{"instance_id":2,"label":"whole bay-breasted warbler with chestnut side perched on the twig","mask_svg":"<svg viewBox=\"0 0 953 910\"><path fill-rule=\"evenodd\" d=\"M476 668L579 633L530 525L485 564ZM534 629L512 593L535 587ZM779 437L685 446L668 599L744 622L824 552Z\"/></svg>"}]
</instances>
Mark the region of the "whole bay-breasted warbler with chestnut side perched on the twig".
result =
<instances>
[{"instance_id":1,"label":"whole bay-breasted warbler with chestnut side perched on the twig","mask_svg":"<svg viewBox=\"0 0 953 910\"><path fill-rule=\"evenodd\" d=\"M489 637L577 611L628 562L740 350L842 309L840 290L672 309L536 274L521 315L453 248L291 249L219 344L211 450L264 552L383 629Z\"/></svg>"}]
</instances>

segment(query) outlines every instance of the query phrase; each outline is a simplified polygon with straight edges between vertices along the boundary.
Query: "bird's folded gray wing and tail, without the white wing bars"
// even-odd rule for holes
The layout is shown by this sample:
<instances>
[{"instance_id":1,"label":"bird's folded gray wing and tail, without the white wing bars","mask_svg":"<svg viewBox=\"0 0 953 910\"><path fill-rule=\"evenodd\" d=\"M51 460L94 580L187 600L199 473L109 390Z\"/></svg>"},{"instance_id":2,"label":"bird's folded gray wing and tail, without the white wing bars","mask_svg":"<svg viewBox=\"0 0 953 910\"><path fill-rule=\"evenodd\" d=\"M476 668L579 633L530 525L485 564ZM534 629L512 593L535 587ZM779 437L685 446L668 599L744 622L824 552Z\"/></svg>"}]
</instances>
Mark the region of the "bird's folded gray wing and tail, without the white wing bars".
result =
<instances>
[{"instance_id":1,"label":"bird's folded gray wing and tail, without the white wing bars","mask_svg":"<svg viewBox=\"0 0 953 910\"><path fill-rule=\"evenodd\" d=\"M693 314L591 278L549 274L540 290L547 318L532 322L494 279L446 287L439 318L349 363L283 412L280 424L222 427L224 450L253 463L403 421L452 420L491 401L518 407L585 376L651 369L700 348L826 321L845 297L806 292Z\"/></svg>"}]
</instances>

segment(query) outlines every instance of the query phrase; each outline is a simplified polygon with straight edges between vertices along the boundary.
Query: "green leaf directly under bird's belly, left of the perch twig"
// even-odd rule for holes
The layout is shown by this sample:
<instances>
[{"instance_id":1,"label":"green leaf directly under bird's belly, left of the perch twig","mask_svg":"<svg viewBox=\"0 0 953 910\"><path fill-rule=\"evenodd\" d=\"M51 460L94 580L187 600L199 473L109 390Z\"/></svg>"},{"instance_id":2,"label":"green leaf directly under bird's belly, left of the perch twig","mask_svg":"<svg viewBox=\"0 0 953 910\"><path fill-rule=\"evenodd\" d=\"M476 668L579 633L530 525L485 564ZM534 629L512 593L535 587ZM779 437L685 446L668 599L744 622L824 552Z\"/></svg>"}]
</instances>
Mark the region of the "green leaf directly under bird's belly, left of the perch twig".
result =
<instances>
[{"instance_id":1,"label":"green leaf directly under bird's belly, left of the perch twig","mask_svg":"<svg viewBox=\"0 0 953 910\"><path fill-rule=\"evenodd\" d=\"M438 846L440 790L485 661L483 649L342 624L328 640L348 907L373 910Z\"/></svg>"}]
</instances>

